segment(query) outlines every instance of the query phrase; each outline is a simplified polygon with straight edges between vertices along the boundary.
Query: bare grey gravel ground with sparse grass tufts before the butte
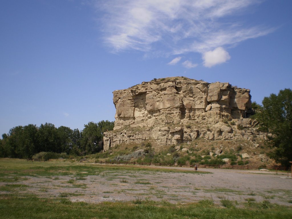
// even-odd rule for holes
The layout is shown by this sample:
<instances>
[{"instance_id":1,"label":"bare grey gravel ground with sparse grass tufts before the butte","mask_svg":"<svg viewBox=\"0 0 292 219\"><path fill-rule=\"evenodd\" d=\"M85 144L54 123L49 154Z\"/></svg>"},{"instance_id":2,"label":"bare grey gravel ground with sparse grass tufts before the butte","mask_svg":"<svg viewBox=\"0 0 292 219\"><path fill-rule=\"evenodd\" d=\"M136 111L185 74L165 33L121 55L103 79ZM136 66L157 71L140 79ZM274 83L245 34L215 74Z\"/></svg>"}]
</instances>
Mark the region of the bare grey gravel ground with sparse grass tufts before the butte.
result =
<instances>
[{"instance_id":1,"label":"bare grey gravel ground with sparse grass tufts before the butte","mask_svg":"<svg viewBox=\"0 0 292 219\"><path fill-rule=\"evenodd\" d=\"M199 171L210 174L119 169L82 178L73 175L48 178L27 176L28 179L22 184L29 186L26 192L39 197L67 197L71 201L91 203L145 198L171 203L197 202L201 199L213 199L215 203L221 199L244 203L250 199L292 206L289 203L292 201L291 173L288 178L287 173L271 171L211 168L201 168Z\"/></svg>"}]
</instances>

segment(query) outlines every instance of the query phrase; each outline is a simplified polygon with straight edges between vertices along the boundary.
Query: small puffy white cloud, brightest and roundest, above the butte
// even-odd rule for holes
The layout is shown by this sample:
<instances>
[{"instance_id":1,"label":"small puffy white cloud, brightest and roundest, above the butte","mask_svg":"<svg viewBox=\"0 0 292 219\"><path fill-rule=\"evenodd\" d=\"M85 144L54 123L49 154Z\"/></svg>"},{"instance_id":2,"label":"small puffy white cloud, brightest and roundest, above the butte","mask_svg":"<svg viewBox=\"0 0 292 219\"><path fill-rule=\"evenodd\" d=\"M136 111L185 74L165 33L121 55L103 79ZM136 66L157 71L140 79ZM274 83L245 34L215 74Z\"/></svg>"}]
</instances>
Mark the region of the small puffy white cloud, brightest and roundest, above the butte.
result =
<instances>
[{"instance_id":1,"label":"small puffy white cloud, brightest and roundest, above the butte","mask_svg":"<svg viewBox=\"0 0 292 219\"><path fill-rule=\"evenodd\" d=\"M212 67L230 60L230 55L222 47L217 47L213 51L208 51L203 54L204 66Z\"/></svg>"}]
</instances>

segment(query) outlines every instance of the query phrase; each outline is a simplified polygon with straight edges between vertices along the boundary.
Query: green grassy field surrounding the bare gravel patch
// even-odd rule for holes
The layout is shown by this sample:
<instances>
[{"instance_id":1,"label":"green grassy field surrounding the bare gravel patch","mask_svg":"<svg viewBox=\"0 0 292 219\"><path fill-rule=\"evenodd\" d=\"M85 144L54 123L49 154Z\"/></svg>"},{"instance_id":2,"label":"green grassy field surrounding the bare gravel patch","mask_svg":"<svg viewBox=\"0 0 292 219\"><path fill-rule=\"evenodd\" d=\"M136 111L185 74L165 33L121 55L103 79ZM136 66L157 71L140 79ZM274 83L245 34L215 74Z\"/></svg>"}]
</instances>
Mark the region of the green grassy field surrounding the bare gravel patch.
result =
<instances>
[{"instance_id":1,"label":"green grassy field surrounding the bare gravel patch","mask_svg":"<svg viewBox=\"0 0 292 219\"><path fill-rule=\"evenodd\" d=\"M82 182L88 176L106 175L106 173L149 173L174 172L202 174L203 172L181 171L179 169L152 169L136 166L99 166L93 164L67 162L27 162L18 159L0 159L0 218L289 218L292 208L271 204L264 200L257 202L253 197L244 203L237 203L222 198L220 204L212 199L196 203L171 204L168 201L152 201L136 198L132 201L101 202L93 204L84 201L72 202L70 196L82 196ZM27 192L27 178L47 178L58 181L70 176L65 185L76 186L78 192L62 192L56 197L39 197ZM108 177L108 176L107 176ZM120 177L120 176L119 176ZM139 186L150 186L146 179L134 179ZM128 185L128 180L121 178L119 183ZM149 184L149 185L148 185ZM42 188L46 192L48 188ZM80 190L80 191L79 191ZM109 197L114 191L105 191ZM218 191L222 192L222 191ZM226 192L226 191L223 191ZM228 191L227 191L228 192Z\"/></svg>"}]
</instances>

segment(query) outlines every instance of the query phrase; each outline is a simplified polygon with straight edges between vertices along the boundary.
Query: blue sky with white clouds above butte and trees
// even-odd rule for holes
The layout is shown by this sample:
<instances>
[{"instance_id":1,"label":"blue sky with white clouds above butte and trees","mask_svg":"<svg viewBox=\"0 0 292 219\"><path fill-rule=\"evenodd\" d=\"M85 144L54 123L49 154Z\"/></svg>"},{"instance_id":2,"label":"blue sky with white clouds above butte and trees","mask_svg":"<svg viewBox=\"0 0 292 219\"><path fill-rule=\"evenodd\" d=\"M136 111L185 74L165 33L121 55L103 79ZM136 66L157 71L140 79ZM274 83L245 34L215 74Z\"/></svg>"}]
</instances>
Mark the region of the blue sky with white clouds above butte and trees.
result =
<instances>
[{"instance_id":1,"label":"blue sky with white clouds above butte and trees","mask_svg":"<svg viewBox=\"0 0 292 219\"><path fill-rule=\"evenodd\" d=\"M157 3L158 2L158 3ZM291 88L290 0L1 0L0 134L114 121L112 91L185 76Z\"/></svg>"}]
</instances>

